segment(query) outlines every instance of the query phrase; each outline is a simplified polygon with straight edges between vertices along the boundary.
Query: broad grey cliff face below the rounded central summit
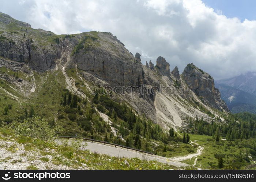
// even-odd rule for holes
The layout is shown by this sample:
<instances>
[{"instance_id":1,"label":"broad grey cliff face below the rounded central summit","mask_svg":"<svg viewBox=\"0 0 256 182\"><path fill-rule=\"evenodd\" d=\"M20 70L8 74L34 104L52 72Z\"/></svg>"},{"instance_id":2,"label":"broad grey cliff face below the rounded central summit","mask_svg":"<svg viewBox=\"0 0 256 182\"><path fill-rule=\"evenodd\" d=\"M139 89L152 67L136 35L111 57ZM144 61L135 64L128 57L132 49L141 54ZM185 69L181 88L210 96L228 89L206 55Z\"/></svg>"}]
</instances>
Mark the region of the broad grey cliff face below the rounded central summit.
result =
<instances>
[{"instance_id":1,"label":"broad grey cliff face below the rounded central summit","mask_svg":"<svg viewBox=\"0 0 256 182\"><path fill-rule=\"evenodd\" d=\"M116 41L112 34L99 32L97 44L88 46L72 56L71 60L80 70L100 77L112 86L139 86L144 83L144 71L140 55L135 58L121 43L116 43L116 49L111 50L110 43ZM102 41L107 40L107 41Z\"/></svg>"}]
</instances>

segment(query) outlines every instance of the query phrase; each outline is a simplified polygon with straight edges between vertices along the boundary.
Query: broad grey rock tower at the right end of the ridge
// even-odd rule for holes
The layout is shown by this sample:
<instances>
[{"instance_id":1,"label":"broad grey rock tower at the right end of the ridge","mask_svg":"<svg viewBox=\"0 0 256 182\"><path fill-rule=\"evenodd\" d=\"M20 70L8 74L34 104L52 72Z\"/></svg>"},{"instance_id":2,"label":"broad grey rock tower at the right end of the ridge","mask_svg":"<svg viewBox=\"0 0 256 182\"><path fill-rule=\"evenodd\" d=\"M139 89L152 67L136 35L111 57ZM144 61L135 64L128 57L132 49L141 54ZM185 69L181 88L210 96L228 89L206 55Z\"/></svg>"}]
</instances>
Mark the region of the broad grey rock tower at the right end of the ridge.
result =
<instances>
[{"instance_id":1,"label":"broad grey rock tower at the right end of the ridge","mask_svg":"<svg viewBox=\"0 0 256 182\"><path fill-rule=\"evenodd\" d=\"M221 94L214 87L214 79L203 70L197 68L193 63L188 64L182 73L182 79L187 83L188 87L201 98L202 102L219 110L229 109L226 103L221 100Z\"/></svg>"}]
</instances>

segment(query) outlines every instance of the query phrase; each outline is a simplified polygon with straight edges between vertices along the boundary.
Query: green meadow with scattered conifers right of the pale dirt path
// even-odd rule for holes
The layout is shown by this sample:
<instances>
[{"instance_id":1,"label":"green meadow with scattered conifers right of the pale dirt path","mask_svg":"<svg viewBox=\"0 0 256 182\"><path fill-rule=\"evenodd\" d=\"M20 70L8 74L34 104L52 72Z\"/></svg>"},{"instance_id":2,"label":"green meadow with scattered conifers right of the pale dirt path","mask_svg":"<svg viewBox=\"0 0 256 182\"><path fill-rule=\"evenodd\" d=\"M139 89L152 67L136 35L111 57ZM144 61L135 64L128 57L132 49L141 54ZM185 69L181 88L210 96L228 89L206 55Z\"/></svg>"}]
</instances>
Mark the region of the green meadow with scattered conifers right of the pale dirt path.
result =
<instances>
[{"instance_id":1,"label":"green meadow with scattered conifers right of the pale dirt path","mask_svg":"<svg viewBox=\"0 0 256 182\"><path fill-rule=\"evenodd\" d=\"M255 139L236 141L220 140L216 142L212 137L206 135L189 134L189 136L191 141L196 141L196 143L204 147L202 155L197 158L196 167L202 169L218 169L218 155L221 155L223 158L223 169L246 169L247 166L252 165L254 163L253 161L256 160L255 151L251 149L255 145ZM237 159L240 151L243 159L238 162ZM251 155L251 160L246 161L246 153ZM191 164L194 161L194 159L188 159L182 162Z\"/></svg>"}]
</instances>

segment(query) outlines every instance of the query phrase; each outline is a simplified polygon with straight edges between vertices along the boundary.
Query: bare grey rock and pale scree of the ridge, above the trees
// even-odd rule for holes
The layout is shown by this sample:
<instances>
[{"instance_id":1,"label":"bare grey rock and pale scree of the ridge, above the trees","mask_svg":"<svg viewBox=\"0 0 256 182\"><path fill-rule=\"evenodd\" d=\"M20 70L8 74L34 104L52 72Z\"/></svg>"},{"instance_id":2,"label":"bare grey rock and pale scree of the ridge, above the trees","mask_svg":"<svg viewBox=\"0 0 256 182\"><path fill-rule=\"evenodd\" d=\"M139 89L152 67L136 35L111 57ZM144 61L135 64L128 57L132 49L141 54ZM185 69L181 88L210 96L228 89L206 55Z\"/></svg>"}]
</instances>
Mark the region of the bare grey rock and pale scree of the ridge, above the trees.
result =
<instances>
[{"instance_id":1,"label":"bare grey rock and pale scree of the ridge, above the trees","mask_svg":"<svg viewBox=\"0 0 256 182\"><path fill-rule=\"evenodd\" d=\"M63 75L58 78L65 80L61 85L83 99L90 99L86 95L91 92L89 86L130 87L121 95L112 94L112 99L128 104L165 129L181 127L184 120L196 116L219 121L218 116L223 118L229 111L206 72L192 63L181 75L177 67L171 72L170 64L161 56L156 66L151 61L142 65L140 54L134 57L111 33L55 35L0 13L0 36L0 66L4 70L0 78L15 90L1 86L1 94L12 94L21 102L41 93L48 85L48 75L60 71ZM133 87L143 89L135 92ZM86 92L81 94L81 89Z\"/></svg>"}]
</instances>

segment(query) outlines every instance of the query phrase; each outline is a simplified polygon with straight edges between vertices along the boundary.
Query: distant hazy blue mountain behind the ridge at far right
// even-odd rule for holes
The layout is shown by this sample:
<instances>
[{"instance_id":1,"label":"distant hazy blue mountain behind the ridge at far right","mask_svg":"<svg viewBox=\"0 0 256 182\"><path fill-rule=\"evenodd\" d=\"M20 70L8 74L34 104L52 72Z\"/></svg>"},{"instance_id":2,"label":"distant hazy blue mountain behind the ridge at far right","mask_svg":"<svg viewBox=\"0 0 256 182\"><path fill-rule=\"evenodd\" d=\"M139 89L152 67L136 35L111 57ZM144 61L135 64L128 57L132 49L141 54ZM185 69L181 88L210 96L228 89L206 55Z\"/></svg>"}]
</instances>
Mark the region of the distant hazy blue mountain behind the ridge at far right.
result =
<instances>
[{"instance_id":1,"label":"distant hazy blue mountain behind the ridge at far right","mask_svg":"<svg viewBox=\"0 0 256 182\"><path fill-rule=\"evenodd\" d=\"M256 114L256 72L248 72L234 78L218 80L216 87L221 91L230 111Z\"/></svg>"}]
</instances>

